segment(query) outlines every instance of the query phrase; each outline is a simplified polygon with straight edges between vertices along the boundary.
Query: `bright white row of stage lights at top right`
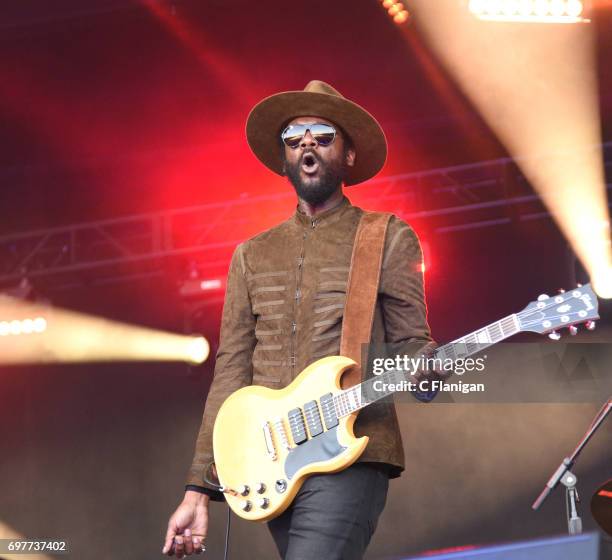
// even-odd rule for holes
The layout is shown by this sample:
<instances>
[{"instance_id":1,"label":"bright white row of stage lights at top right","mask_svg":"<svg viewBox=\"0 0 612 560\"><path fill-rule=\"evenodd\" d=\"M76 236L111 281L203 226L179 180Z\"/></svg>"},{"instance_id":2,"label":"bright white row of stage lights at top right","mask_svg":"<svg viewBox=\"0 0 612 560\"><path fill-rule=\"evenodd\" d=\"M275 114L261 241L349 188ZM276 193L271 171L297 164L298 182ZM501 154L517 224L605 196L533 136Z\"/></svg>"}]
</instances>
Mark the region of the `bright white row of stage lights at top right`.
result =
<instances>
[{"instance_id":1,"label":"bright white row of stage lights at top right","mask_svg":"<svg viewBox=\"0 0 612 560\"><path fill-rule=\"evenodd\" d=\"M468 0L477 18L518 23L588 23L588 0Z\"/></svg>"}]
</instances>

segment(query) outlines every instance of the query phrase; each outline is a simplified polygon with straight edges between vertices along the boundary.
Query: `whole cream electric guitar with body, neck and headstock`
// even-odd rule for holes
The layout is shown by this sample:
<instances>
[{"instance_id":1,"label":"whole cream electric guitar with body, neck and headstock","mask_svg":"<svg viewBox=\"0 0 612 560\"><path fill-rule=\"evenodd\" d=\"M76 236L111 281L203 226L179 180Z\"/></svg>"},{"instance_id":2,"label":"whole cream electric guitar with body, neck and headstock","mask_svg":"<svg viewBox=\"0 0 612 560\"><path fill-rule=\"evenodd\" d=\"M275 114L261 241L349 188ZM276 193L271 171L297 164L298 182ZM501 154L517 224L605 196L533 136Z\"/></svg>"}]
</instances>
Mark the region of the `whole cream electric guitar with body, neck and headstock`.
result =
<instances>
[{"instance_id":1,"label":"whole cream electric guitar with body, neck and headstock","mask_svg":"<svg viewBox=\"0 0 612 560\"><path fill-rule=\"evenodd\" d=\"M575 325L592 329L598 318L597 297L590 285L580 286L542 295L520 313L437 348L433 357L465 358L526 331L558 340L556 329L575 334ZM390 393L372 391L374 379L342 390L340 378L353 365L343 356L323 358L284 389L244 387L223 403L213 448L219 481L237 515L268 521L291 504L306 477L340 471L359 458L369 438L353 434L357 413ZM375 379L391 384L405 375L390 371Z\"/></svg>"}]
</instances>

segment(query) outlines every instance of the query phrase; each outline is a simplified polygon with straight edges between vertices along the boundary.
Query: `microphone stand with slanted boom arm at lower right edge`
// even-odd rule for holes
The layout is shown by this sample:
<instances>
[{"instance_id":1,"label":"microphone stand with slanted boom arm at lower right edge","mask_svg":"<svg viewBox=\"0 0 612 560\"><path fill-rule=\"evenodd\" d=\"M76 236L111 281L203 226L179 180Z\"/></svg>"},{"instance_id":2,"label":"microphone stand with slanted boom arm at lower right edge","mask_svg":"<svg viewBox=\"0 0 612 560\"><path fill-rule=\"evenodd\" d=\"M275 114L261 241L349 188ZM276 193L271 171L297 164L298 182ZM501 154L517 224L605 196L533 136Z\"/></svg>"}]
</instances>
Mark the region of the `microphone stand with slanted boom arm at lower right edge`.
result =
<instances>
[{"instance_id":1,"label":"microphone stand with slanted boom arm at lower right edge","mask_svg":"<svg viewBox=\"0 0 612 560\"><path fill-rule=\"evenodd\" d=\"M544 486L544 490L542 490L536 501L533 502L531 506L531 509L536 511L549 496L549 494L557 487L559 482L563 484L563 486L565 486L567 530L570 535L582 533L582 519L578 515L578 507L576 505L577 502L580 502L580 496L578 495L578 490L576 489L578 479L571 469L576 463L578 455L580 455L580 452L584 449L584 446L597 431L597 428L599 428L606 416L610 413L610 410L612 410L612 397L608 398L608 402L606 402L599 409L599 412L595 415L593 422L591 422L587 432L584 434L584 436L582 436L582 439L576 446L576 449L574 449L574 452L570 457L565 457L563 459L557 470L550 477L550 480L546 483L546 486Z\"/></svg>"}]
</instances>

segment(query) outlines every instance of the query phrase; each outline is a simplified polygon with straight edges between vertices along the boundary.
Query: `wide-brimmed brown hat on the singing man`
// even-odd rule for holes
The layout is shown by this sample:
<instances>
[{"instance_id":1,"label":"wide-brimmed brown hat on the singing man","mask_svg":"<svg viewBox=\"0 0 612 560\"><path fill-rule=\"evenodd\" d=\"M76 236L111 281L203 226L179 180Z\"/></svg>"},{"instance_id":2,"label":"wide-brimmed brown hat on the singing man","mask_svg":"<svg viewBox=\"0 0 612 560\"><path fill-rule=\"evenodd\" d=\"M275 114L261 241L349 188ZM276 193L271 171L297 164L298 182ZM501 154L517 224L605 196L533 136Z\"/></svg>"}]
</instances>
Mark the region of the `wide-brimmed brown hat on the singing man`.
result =
<instances>
[{"instance_id":1,"label":"wide-brimmed brown hat on the singing man","mask_svg":"<svg viewBox=\"0 0 612 560\"><path fill-rule=\"evenodd\" d=\"M346 185L366 181L380 171L387 159L387 140L376 119L319 80L309 82L303 91L266 97L253 107L246 123L251 150L266 167L284 175L280 134L292 119L310 115L339 125L349 135L356 156Z\"/></svg>"}]
</instances>

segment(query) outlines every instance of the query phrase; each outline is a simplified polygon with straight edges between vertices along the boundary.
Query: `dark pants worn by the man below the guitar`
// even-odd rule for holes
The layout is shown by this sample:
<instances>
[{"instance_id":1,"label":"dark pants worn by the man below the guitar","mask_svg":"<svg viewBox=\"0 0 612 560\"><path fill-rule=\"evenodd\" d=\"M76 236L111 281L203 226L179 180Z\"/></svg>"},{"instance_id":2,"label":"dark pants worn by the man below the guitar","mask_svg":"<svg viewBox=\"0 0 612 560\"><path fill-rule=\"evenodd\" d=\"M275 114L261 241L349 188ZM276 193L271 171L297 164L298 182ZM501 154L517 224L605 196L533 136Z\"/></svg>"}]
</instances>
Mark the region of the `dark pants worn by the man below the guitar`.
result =
<instances>
[{"instance_id":1,"label":"dark pants worn by the man below the guitar","mask_svg":"<svg viewBox=\"0 0 612 560\"><path fill-rule=\"evenodd\" d=\"M388 488L385 470L370 463L308 478L291 507L268 523L281 558L361 559Z\"/></svg>"}]
</instances>

